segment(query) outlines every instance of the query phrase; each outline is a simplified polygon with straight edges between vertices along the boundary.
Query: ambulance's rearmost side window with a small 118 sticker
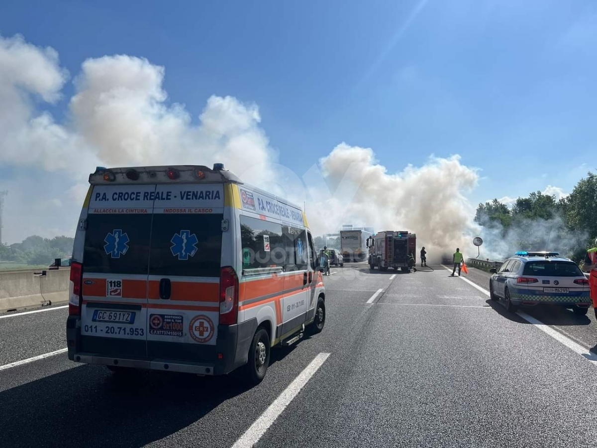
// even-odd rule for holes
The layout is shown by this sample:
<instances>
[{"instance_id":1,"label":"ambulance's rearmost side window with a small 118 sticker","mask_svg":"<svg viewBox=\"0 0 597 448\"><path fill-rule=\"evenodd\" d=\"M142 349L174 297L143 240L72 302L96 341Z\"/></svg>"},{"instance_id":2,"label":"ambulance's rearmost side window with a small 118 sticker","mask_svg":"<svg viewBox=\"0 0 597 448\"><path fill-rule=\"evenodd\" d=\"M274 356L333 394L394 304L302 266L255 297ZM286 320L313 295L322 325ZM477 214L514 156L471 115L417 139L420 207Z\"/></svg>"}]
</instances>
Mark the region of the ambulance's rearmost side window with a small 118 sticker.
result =
<instances>
[{"instance_id":1,"label":"ambulance's rearmost side window with a small 118 sticker","mask_svg":"<svg viewBox=\"0 0 597 448\"><path fill-rule=\"evenodd\" d=\"M284 266L288 255L282 225L241 215L243 269Z\"/></svg>"}]
</instances>

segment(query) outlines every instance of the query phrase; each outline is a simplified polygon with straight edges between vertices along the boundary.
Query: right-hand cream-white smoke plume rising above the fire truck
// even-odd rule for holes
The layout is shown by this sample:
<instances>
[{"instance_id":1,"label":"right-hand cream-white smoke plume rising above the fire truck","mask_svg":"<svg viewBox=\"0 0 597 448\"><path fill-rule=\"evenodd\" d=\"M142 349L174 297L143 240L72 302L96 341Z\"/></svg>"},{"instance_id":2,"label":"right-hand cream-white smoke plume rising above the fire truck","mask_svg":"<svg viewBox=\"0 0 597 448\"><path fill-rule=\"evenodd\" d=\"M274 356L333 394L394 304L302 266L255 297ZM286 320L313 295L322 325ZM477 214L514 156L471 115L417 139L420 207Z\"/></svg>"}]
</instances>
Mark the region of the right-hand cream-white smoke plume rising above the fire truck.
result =
<instances>
[{"instance_id":1,"label":"right-hand cream-white smoke plume rising above the fire truck","mask_svg":"<svg viewBox=\"0 0 597 448\"><path fill-rule=\"evenodd\" d=\"M417 234L417 247L426 247L430 261L456 247L472 255L473 209L464 194L475 188L479 177L457 155L430 157L421 167L408 165L392 174L372 149L342 143L320 164L333 197L315 197L314 228L331 233L341 223L353 223L377 231L405 230Z\"/></svg>"}]
</instances>

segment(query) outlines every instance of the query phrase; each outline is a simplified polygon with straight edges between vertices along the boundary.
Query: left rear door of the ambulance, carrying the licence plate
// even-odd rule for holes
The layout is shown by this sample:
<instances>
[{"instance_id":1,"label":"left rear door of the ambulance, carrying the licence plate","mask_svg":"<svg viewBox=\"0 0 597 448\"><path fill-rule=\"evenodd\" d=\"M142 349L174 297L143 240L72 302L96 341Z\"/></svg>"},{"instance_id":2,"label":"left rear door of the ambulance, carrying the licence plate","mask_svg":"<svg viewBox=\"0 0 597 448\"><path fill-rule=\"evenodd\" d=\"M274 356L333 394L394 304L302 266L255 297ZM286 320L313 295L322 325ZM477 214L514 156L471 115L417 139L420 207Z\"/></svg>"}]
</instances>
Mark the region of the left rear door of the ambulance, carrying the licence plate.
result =
<instances>
[{"instance_id":1,"label":"left rear door of the ambulance, carrying the licence plate","mask_svg":"<svg viewBox=\"0 0 597 448\"><path fill-rule=\"evenodd\" d=\"M84 352L147 355L147 269L155 189L155 185L93 187L83 255Z\"/></svg>"}]
</instances>

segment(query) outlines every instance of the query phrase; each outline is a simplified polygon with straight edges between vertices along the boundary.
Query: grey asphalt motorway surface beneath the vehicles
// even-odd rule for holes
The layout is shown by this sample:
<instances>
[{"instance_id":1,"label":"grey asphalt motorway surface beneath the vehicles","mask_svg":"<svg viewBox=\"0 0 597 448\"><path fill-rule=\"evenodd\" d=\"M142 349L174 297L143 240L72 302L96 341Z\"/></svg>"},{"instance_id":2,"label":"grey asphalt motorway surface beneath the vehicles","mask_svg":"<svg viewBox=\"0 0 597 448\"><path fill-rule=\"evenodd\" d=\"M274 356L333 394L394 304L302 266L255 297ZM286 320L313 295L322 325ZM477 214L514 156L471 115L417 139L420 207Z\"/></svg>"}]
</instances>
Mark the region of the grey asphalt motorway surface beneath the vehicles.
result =
<instances>
[{"instance_id":1,"label":"grey asphalt motorway surface beneath the vehicles","mask_svg":"<svg viewBox=\"0 0 597 448\"><path fill-rule=\"evenodd\" d=\"M333 269L324 331L273 351L252 389L174 373L122 382L64 353L3 368L64 348L67 311L0 318L0 446L232 447L256 421L259 447L595 446L594 315L531 311L553 336L434 267ZM487 288L484 273L468 278Z\"/></svg>"}]
</instances>

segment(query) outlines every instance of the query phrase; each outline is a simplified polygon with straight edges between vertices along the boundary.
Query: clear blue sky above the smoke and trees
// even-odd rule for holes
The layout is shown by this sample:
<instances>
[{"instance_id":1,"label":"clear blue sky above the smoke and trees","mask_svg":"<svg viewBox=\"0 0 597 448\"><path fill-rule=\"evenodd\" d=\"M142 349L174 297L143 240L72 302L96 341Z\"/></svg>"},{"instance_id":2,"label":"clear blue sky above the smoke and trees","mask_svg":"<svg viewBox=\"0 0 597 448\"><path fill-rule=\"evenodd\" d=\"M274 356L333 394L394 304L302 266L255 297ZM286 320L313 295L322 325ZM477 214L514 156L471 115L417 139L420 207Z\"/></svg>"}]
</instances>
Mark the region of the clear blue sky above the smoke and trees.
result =
<instances>
[{"instance_id":1,"label":"clear blue sky above the smoke and trees","mask_svg":"<svg viewBox=\"0 0 597 448\"><path fill-rule=\"evenodd\" d=\"M390 173L459 154L481 169L476 203L597 169L592 1L3 2L0 35L17 33L70 73L38 105L57 122L86 59L127 54L164 66L195 122L212 95L255 103L299 174L341 142Z\"/></svg>"}]
</instances>

